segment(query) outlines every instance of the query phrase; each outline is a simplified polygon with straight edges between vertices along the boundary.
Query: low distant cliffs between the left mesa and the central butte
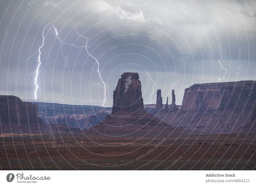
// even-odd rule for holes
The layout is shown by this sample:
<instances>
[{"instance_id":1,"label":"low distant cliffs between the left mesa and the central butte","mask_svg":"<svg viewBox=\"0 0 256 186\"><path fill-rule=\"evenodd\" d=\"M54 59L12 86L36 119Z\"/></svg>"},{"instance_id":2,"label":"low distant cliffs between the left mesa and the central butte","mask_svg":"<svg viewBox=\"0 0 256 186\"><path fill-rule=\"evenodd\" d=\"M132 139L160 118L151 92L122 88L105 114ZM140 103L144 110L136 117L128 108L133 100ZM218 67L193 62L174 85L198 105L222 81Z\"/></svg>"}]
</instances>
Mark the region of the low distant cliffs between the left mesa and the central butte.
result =
<instances>
[{"instance_id":1,"label":"low distant cliffs between the left mesa and the central butte","mask_svg":"<svg viewBox=\"0 0 256 186\"><path fill-rule=\"evenodd\" d=\"M92 126L98 124L100 121L104 120L110 112L100 111L96 114L82 114L82 115L69 115L69 114L59 114L52 117L43 118L44 123L50 124L66 124L67 126L74 128L84 128L89 129Z\"/></svg>"}]
</instances>

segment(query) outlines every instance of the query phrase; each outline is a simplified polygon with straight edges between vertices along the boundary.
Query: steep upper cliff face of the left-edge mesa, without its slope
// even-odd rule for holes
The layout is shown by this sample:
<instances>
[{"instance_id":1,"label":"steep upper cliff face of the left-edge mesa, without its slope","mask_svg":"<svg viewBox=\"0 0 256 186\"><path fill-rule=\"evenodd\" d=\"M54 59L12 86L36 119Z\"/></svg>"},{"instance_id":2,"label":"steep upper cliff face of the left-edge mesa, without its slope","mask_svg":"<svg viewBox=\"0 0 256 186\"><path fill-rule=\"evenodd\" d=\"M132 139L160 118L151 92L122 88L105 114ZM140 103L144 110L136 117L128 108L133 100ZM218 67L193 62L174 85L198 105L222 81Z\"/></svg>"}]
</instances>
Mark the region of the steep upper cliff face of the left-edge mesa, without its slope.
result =
<instances>
[{"instance_id":1,"label":"steep upper cliff face of the left-edge mesa, without its slope","mask_svg":"<svg viewBox=\"0 0 256 186\"><path fill-rule=\"evenodd\" d=\"M16 96L0 96L1 122L42 122L37 116L37 105Z\"/></svg>"}]
</instances>

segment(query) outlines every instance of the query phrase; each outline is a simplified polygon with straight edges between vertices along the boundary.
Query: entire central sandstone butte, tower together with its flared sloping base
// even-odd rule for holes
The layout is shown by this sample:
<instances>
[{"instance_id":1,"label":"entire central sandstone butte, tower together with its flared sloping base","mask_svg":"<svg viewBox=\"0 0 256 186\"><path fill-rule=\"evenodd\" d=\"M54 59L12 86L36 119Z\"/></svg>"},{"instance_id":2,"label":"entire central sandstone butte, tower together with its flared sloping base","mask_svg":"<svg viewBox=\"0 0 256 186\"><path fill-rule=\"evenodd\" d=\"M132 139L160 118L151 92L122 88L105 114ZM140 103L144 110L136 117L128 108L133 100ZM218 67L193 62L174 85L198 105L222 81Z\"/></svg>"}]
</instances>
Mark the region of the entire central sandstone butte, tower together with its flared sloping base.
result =
<instances>
[{"instance_id":1,"label":"entire central sandstone butte, tower together with its flared sloping base","mask_svg":"<svg viewBox=\"0 0 256 186\"><path fill-rule=\"evenodd\" d=\"M126 79L131 78L131 81ZM133 79L134 78L134 79ZM124 73L114 91L112 114L105 120L85 131L88 135L104 136L141 136L167 135L176 129L157 119L143 108L141 84L138 73ZM125 82L131 82L125 86ZM125 89L126 92L125 92ZM126 105L125 107L123 107Z\"/></svg>"}]
</instances>

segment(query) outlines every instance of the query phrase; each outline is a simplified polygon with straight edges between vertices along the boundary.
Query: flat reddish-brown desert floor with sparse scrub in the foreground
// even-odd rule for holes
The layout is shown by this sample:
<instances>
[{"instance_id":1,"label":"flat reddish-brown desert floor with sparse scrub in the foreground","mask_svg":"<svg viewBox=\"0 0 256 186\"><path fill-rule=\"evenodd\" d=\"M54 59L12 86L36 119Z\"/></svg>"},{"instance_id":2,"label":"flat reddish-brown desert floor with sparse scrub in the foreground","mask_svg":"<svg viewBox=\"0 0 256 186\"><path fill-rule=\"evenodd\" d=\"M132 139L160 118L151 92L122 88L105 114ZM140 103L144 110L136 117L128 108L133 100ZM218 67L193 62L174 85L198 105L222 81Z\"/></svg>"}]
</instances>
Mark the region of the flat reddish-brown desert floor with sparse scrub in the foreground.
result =
<instances>
[{"instance_id":1,"label":"flat reddish-brown desert floor with sparse scrub in the foreground","mask_svg":"<svg viewBox=\"0 0 256 186\"><path fill-rule=\"evenodd\" d=\"M0 136L0 168L2 170L256 169L255 135L221 134L209 137L173 135L169 138L157 137L153 141L151 141L154 138L152 136L137 141L134 141L138 139L136 137L117 140L115 137L95 136L91 136L89 140L80 134L55 135L55 138L56 141L49 135ZM51 143L56 144L56 148L53 148Z\"/></svg>"}]
</instances>

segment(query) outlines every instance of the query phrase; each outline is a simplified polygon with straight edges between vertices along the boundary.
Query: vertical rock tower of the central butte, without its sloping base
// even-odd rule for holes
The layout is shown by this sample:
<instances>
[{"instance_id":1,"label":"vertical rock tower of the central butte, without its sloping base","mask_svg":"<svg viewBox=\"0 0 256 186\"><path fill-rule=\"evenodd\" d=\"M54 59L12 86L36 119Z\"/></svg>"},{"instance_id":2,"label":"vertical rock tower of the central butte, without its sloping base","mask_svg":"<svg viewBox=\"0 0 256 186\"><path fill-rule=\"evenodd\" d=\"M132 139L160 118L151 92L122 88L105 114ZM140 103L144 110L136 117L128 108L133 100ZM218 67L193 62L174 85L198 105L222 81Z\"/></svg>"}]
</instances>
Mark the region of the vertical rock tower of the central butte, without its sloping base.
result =
<instances>
[{"instance_id":1,"label":"vertical rock tower of the central butte, without its sloping base","mask_svg":"<svg viewBox=\"0 0 256 186\"><path fill-rule=\"evenodd\" d=\"M112 114L117 111L135 112L138 109L143 109L139 74L126 72L121 75L114 91Z\"/></svg>"}]
</instances>

